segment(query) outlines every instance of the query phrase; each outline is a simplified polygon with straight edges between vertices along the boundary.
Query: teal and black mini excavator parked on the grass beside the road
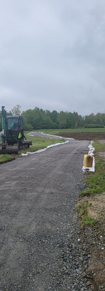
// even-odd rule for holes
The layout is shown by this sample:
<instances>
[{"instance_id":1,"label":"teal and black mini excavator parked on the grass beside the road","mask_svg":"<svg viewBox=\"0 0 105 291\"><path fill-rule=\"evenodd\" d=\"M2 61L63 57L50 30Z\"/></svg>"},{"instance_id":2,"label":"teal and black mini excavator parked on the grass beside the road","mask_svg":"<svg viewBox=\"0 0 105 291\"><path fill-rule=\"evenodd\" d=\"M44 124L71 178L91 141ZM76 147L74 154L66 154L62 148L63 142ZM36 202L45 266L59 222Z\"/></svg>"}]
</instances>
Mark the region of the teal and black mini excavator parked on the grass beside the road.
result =
<instances>
[{"instance_id":1,"label":"teal and black mini excavator parked on the grass beside the road","mask_svg":"<svg viewBox=\"0 0 105 291\"><path fill-rule=\"evenodd\" d=\"M0 154L17 154L17 134L23 126L23 117L21 115L7 116L5 106L2 106L1 120L2 132L0 133ZM29 148L32 141L23 141L24 148Z\"/></svg>"}]
</instances>

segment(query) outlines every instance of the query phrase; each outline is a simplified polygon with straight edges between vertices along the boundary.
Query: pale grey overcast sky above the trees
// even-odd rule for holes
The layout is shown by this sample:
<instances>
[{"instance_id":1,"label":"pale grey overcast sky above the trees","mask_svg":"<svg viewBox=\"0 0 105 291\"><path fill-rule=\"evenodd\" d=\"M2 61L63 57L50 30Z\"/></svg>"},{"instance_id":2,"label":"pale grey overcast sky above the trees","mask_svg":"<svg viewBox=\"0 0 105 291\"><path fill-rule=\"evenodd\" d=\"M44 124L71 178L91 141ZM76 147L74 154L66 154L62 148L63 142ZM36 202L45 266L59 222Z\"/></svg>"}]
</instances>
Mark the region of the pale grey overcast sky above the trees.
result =
<instances>
[{"instance_id":1,"label":"pale grey overcast sky above the trees","mask_svg":"<svg viewBox=\"0 0 105 291\"><path fill-rule=\"evenodd\" d=\"M105 112L105 1L0 0L0 104Z\"/></svg>"}]
</instances>

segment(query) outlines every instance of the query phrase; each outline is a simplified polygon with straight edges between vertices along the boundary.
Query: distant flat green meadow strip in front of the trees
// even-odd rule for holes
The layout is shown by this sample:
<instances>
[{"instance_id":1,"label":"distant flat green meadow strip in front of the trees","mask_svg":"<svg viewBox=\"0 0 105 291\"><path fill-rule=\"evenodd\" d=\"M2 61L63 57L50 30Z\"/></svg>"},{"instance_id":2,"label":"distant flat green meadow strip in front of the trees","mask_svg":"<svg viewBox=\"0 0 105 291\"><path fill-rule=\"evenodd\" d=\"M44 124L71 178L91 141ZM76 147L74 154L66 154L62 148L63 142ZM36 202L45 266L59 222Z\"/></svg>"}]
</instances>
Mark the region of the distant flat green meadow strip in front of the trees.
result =
<instances>
[{"instance_id":1,"label":"distant flat green meadow strip in front of the trees","mask_svg":"<svg viewBox=\"0 0 105 291\"><path fill-rule=\"evenodd\" d=\"M44 132L47 134L57 135L57 132L105 132L105 128L68 128L68 129L37 129L33 132Z\"/></svg>"}]
</instances>

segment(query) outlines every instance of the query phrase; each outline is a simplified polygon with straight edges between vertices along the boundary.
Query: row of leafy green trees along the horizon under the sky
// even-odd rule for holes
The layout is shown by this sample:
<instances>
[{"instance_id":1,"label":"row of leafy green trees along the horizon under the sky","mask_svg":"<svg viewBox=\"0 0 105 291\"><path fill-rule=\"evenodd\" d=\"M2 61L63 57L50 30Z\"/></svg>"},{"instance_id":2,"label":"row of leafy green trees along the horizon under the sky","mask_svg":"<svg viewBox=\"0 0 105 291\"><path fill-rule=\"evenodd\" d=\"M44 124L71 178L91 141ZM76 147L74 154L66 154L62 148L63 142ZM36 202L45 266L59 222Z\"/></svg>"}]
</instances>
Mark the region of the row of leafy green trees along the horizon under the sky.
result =
<instances>
[{"instance_id":1,"label":"row of leafy green trees along the horizon under the sky","mask_svg":"<svg viewBox=\"0 0 105 291\"><path fill-rule=\"evenodd\" d=\"M24 130L105 126L105 113L97 113L96 115L90 113L89 115L81 116L77 112L57 112L56 110L50 112L38 107L21 112L21 105L19 104L7 112L7 115L21 114L24 120Z\"/></svg>"}]
</instances>

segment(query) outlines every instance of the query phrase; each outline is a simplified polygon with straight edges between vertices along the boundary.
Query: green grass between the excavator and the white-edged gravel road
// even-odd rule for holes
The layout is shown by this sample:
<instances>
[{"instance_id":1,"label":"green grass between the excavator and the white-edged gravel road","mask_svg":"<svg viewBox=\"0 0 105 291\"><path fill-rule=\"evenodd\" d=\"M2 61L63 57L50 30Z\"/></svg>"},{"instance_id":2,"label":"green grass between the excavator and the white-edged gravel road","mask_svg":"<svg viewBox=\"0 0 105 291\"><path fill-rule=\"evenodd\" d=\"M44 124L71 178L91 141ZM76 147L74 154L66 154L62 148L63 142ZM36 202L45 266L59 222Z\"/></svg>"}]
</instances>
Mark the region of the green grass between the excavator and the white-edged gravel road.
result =
<instances>
[{"instance_id":1,"label":"green grass between the excavator and the white-edged gravel road","mask_svg":"<svg viewBox=\"0 0 105 291\"><path fill-rule=\"evenodd\" d=\"M24 151L21 151L26 153L26 152L36 152L37 150L41 150L41 149L44 149L44 148L47 148L47 145L51 145L51 144L55 144L55 143L62 143L62 142L65 142L64 139L62 140L59 140L59 139L47 139L47 138L44 138L44 137L39 137L39 136L29 136L27 135L29 132L24 132L24 135L26 136L26 141L30 141L32 140L32 146L30 145L30 148L24 150ZM20 154L20 152L19 152Z\"/></svg>"}]
</instances>

